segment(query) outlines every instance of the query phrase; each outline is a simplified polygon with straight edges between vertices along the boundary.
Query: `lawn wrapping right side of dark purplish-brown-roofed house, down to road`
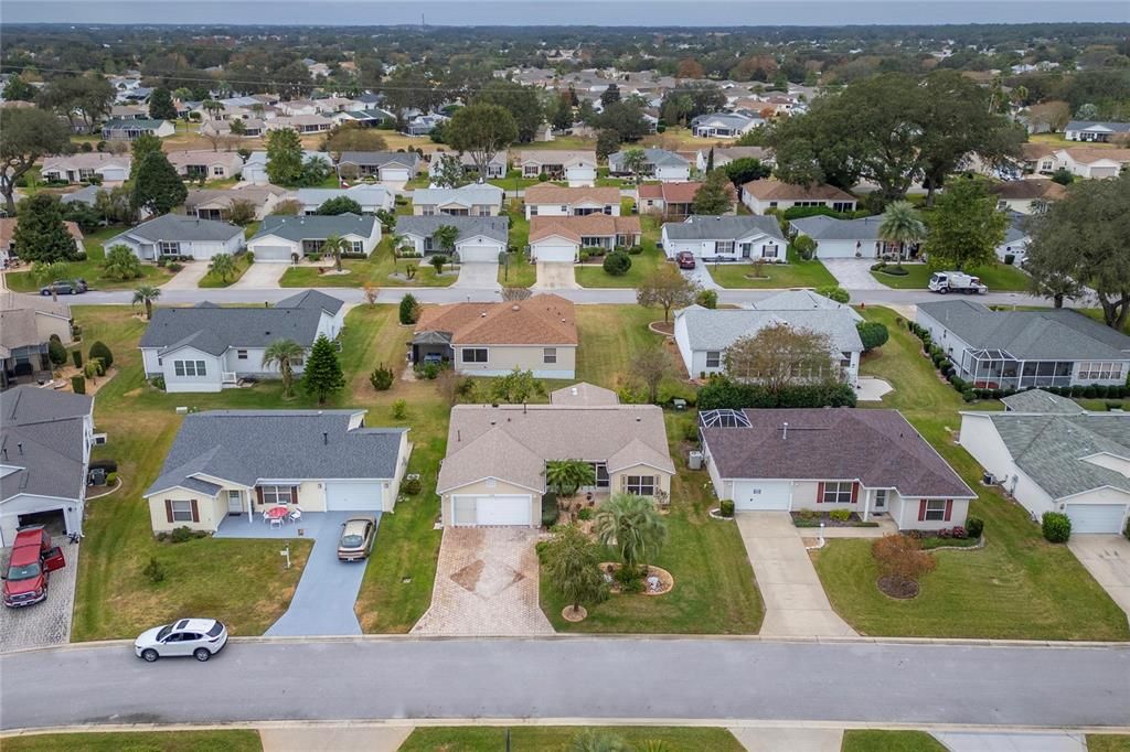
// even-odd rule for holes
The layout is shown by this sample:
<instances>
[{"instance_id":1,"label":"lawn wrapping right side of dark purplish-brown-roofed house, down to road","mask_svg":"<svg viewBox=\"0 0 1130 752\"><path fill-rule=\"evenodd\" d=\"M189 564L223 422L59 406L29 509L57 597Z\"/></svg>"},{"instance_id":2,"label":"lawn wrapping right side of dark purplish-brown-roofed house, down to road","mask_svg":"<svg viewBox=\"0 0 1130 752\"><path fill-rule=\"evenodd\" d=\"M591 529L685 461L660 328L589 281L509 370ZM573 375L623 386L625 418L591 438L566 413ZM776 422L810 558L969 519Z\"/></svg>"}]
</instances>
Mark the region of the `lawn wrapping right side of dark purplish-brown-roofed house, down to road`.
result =
<instances>
[{"instance_id":1,"label":"lawn wrapping right side of dark purplish-brown-roofed house, down to road","mask_svg":"<svg viewBox=\"0 0 1130 752\"><path fill-rule=\"evenodd\" d=\"M863 635L1001 639L1130 638L1125 614L1063 545L1046 543L1027 511L980 484L981 467L953 443L960 397L919 353L919 341L884 308L866 316L890 330L890 341L863 359L861 371L895 387L881 406L897 408L977 491L970 514L985 522L984 549L936 553L937 569L921 594L895 601L879 592L866 540L835 540L815 554L833 607ZM1000 409L984 402L973 409Z\"/></svg>"}]
</instances>

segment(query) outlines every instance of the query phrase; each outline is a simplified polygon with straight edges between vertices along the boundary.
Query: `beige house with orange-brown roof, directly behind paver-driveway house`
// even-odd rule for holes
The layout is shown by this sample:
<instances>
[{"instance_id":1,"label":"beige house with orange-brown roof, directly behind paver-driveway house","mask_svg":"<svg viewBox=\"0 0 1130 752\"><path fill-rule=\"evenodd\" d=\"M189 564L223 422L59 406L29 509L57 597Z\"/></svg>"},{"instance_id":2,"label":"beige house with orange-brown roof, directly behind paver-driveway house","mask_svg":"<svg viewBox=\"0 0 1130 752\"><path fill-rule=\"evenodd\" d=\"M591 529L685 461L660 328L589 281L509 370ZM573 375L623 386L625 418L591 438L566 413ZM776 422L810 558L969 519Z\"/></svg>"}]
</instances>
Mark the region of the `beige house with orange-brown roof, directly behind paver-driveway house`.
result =
<instances>
[{"instance_id":1,"label":"beige house with orange-brown roof, directly behind paver-driveway house","mask_svg":"<svg viewBox=\"0 0 1130 752\"><path fill-rule=\"evenodd\" d=\"M534 295L427 307L408 347L411 362L449 362L462 374L505 376L518 368L538 378L573 378L577 342L573 303Z\"/></svg>"}]
</instances>

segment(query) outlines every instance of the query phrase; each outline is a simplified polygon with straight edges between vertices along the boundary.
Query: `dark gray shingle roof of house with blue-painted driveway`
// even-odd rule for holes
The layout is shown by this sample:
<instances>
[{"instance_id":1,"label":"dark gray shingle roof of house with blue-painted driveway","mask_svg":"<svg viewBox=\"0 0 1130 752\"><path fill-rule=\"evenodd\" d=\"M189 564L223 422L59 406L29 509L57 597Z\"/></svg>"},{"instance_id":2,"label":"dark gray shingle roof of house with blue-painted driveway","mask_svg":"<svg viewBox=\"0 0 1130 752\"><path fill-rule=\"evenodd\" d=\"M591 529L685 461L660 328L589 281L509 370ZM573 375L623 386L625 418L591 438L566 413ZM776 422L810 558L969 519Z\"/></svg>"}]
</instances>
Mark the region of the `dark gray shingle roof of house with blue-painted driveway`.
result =
<instances>
[{"instance_id":1,"label":"dark gray shingle roof of house with blue-painted driveway","mask_svg":"<svg viewBox=\"0 0 1130 752\"><path fill-rule=\"evenodd\" d=\"M151 496L211 475L260 480L391 479L407 428L355 428L359 410L216 410L184 418ZM325 435L323 437L323 434ZM275 437L277 440L249 440ZM207 481L205 481L207 483ZM208 486L212 486L208 483ZM207 487L194 488L205 492Z\"/></svg>"}]
</instances>

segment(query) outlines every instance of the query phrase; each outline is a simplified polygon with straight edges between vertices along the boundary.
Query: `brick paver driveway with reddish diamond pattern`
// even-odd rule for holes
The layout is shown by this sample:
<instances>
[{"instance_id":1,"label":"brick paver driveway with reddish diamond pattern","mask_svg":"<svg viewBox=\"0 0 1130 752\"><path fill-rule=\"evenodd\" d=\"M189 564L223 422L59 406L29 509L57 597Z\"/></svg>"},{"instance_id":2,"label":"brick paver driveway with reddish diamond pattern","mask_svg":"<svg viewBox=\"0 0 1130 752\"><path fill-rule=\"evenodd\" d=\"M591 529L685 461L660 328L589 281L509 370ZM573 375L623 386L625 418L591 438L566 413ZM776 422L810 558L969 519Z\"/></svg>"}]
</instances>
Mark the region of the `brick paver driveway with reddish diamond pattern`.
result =
<instances>
[{"instance_id":1,"label":"brick paver driveway with reddish diamond pattern","mask_svg":"<svg viewBox=\"0 0 1130 752\"><path fill-rule=\"evenodd\" d=\"M432 606L418 635L553 635L538 606L537 531L447 527L443 531Z\"/></svg>"}]
</instances>

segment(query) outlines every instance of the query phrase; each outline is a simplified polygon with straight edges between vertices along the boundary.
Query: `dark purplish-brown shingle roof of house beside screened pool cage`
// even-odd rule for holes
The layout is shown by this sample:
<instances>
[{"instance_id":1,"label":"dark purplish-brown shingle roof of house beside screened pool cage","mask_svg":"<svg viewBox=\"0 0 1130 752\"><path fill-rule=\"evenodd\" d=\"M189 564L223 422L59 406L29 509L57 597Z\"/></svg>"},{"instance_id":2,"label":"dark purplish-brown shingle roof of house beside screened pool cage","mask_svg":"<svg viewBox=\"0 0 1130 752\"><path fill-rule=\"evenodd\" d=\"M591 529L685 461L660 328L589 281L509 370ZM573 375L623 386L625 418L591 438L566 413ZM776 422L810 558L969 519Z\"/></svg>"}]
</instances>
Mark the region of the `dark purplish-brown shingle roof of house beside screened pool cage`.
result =
<instances>
[{"instance_id":1,"label":"dark purplish-brown shingle roof of house beside screened pool cage","mask_svg":"<svg viewBox=\"0 0 1130 752\"><path fill-rule=\"evenodd\" d=\"M975 498L897 410L744 411L749 427L704 427L722 478L853 480L901 496ZM789 423L788 435L783 429Z\"/></svg>"}]
</instances>

